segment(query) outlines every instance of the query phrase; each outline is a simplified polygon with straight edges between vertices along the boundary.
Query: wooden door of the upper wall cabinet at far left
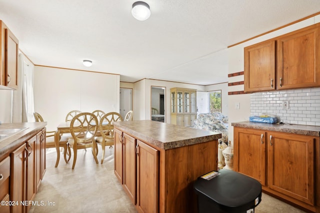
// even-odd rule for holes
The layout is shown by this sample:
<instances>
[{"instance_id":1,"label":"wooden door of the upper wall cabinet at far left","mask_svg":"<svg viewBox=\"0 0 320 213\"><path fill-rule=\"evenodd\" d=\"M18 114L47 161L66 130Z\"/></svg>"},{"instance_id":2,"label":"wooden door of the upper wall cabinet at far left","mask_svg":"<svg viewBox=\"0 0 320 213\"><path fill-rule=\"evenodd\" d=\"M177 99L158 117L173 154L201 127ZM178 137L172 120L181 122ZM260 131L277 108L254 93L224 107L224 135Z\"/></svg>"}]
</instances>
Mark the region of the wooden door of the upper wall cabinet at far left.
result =
<instances>
[{"instance_id":1,"label":"wooden door of the upper wall cabinet at far left","mask_svg":"<svg viewBox=\"0 0 320 213\"><path fill-rule=\"evenodd\" d=\"M18 88L18 39L9 29L5 29L5 70L6 70L6 86Z\"/></svg>"}]
</instances>

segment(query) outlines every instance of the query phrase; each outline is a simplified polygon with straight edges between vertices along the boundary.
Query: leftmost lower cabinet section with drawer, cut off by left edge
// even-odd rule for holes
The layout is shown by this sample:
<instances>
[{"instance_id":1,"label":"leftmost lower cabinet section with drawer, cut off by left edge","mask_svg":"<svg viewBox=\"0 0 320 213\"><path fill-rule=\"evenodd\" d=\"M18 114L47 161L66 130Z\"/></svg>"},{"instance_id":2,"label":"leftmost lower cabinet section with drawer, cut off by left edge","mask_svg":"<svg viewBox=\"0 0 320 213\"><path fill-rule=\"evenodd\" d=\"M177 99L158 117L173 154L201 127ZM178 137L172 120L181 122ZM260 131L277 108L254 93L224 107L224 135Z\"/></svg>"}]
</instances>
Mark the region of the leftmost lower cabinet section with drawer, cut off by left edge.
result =
<instances>
[{"instance_id":1,"label":"leftmost lower cabinet section with drawer, cut off by left edge","mask_svg":"<svg viewBox=\"0 0 320 213\"><path fill-rule=\"evenodd\" d=\"M8 202L10 189L10 157L6 157L0 162L0 201ZM0 205L1 213L9 213L10 206Z\"/></svg>"}]
</instances>

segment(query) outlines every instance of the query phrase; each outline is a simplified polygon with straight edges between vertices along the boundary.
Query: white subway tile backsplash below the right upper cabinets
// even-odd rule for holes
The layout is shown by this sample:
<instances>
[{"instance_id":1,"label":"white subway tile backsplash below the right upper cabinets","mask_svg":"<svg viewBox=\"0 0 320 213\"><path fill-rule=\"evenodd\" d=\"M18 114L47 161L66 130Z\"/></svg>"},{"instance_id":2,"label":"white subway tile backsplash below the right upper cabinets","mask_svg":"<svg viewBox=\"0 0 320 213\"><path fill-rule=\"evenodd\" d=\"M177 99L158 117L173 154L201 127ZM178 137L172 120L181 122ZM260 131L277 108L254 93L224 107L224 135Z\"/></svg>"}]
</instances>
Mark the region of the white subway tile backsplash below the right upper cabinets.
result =
<instances>
[{"instance_id":1,"label":"white subway tile backsplash below the right upper cabinets","mask_svg":"<svg viewBox=\"0 0 320 213\"><path fill-rule=\"evenodd\" d=\"M288 102L288 109L283 109L283 101ZM251 115L275 115L278 122L320 126L320 88L252 93L250 110Z\"/></svg>"}]
</instances>

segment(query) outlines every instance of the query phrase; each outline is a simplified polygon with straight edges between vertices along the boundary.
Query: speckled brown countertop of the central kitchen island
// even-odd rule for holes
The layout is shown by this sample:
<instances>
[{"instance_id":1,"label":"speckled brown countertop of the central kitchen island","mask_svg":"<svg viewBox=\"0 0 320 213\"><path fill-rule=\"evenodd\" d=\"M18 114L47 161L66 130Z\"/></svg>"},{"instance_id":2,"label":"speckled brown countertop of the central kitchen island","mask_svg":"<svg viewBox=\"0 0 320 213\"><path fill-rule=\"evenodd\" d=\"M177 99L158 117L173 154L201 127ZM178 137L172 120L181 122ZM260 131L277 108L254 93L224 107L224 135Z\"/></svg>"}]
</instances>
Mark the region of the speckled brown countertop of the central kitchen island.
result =
<instances>
[{"instance_id":1,"label":"speckled brown countertop of the central kitchen island","mask_svg":"<svg viewBox=\"0 0 320 213\"><path fill-rule=\"evenodd\" d=\"M221 138L221 133L180 127L151 120L114 122L114 127L163 150Z\"/></svg>"}]
</instances>

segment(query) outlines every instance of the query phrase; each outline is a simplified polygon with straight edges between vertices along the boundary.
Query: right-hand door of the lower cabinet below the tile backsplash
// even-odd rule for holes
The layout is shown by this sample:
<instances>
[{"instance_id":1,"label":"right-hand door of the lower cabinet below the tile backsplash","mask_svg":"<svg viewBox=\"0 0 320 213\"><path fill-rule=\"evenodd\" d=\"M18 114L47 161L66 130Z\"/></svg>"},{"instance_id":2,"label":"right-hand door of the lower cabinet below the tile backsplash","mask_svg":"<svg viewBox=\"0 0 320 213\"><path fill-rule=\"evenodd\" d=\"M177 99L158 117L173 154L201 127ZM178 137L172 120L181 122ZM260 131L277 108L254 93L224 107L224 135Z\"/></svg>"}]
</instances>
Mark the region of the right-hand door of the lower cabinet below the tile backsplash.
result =
<instances>
[{"instance_id":1,"label":"right-hand door of the lower cabinet below the tile backsplash","mask_svg":"<svg viewBox=\"0 0 320 213\"><path fill-rule=\"evenodd\" d=\"M267 137L268 187L313 205L315 139L273 132Z\"/></svg>"}]
</instances>

